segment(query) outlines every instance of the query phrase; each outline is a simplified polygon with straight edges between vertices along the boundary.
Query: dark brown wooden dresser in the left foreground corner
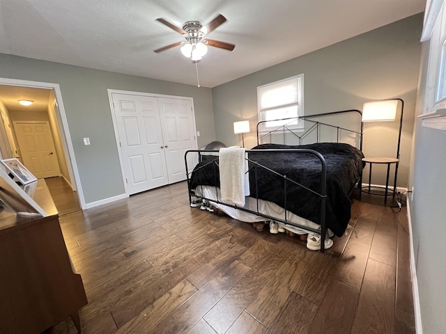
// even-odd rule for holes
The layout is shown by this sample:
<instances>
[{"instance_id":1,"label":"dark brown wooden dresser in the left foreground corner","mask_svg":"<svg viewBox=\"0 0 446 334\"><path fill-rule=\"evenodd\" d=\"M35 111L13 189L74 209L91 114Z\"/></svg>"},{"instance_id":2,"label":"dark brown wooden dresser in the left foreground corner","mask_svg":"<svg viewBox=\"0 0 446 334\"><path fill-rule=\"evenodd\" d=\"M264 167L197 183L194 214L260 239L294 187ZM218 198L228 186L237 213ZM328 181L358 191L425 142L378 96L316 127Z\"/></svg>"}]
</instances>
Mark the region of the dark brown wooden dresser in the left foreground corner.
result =
<instances>
[{"instance_id":1,"label":"dark brown wooden dresser in the left foreground corner","mask_svg":"<svg viewBox=\"0 0 446 334\"><path fill-rule=\"evenodd\" d=\"M0 333L40 333L68 317L80 333L84 285L72 268L45 180L37 182L33 199L47 216L0 212Z\"/></svg>"}]
</instances>

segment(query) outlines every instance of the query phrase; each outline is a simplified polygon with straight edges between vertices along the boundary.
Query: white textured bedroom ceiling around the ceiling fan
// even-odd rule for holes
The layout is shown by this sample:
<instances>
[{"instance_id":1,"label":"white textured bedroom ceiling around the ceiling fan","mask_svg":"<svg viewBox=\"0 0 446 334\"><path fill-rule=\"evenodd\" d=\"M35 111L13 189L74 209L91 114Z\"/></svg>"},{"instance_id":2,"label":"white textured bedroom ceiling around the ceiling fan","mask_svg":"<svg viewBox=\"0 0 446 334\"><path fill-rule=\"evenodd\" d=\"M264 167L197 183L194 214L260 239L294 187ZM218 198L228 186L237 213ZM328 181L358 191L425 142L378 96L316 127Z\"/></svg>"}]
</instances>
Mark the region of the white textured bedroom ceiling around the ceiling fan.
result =
<instances>
[{"instance_id":1,"label":"white textured bedroom ceiling around the ceiling fan","mask_svg":"<svg viewBox=\"0 0 446 334\"><path fill-rule=\"evenodd\" d=\"M182 26L228 20L198 63L201 86L214 87L424 10L425 0L0 0L0 53L141 77L197 84L179 47ZM0 74L1 75L1 74Z\"/></svg>"}]
</instances>

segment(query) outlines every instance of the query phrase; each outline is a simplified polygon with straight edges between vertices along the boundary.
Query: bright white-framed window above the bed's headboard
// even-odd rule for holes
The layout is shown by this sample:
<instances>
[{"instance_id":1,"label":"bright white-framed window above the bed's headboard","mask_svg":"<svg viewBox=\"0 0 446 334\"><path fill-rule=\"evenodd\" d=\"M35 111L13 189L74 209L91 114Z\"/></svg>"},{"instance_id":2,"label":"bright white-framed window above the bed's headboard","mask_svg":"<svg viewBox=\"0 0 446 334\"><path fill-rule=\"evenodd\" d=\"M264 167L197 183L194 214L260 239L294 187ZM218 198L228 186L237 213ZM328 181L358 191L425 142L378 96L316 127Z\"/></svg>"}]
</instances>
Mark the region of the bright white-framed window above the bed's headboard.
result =
<instances>
[{"instance_id":1,"label":"bright white-framed window above the bed's headboard","mask_svg":"<svg viewBox=\"0 0 446 334\"><path fill-rule=\"evenodd\" d=\"M303 120L284 120L304 115L303 92L304 74L257 87L259 122L269 121L259 130L268 132L282 126L303 130Z\"/></svg>"}]
</instances>

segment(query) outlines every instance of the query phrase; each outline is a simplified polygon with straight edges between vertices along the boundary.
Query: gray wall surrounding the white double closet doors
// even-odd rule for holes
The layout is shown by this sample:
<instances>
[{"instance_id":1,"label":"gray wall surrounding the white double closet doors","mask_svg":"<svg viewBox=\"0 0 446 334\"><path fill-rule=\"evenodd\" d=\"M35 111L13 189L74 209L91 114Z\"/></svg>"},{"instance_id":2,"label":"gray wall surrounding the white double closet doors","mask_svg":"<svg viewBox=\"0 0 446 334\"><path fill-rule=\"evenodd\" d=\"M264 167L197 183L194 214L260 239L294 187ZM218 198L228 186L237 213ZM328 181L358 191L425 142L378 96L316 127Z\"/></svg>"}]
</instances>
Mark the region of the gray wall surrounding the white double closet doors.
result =
<instances>
[{"instance_id":1,"label":"gray wall surrounding the white double closet doors","mask_svg":"<svg viewBox=\"0 0 446 334\"><path fill-rule=\"evenodd\" d=\"M197 131L201 135L199 148L215 139L210 88L6 54L0 54L0 69L3 78L59 84L86 203L124 193L108 88L193 97ZM90 146L83 144L83 137L90 137Z\"/></svg>"}]
</instances>

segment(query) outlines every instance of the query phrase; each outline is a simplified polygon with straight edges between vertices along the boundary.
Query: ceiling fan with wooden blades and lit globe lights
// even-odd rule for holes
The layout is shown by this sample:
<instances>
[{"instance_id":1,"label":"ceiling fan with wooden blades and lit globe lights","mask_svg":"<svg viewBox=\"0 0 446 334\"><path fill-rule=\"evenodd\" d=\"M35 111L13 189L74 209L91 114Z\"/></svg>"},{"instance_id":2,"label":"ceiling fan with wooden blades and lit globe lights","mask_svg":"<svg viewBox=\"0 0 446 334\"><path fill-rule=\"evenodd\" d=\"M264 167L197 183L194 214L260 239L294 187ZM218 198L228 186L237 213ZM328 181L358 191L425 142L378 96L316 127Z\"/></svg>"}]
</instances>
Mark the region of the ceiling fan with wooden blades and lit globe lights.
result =
<instances>
[{"instance_id":1,"label":"ceiling fan with wooden blades and lit globe lights","mask_svg":"<svg viewBox=\"0 0 446 334\"><path fill-rule=\"evenodd\" d=\"M222 42L220 40L211 40L210 38L205 38L208 33L215 30L218 26L226 22L226 17L219 14L217 17L212 19L206 26L198 21L187 21L183 24L183 29L178 28L174 24L167 22L165 19L159 18L156 19L158 22L168 26L170 29L176 31L183 35L185 40L180 42L175 42L171 45L166 45L165 47L161 47L160 49L153 50L153 52L162 52L167 49L171 49L172 47L181 47L181 53L187 58L191 58L192 61L199 61L201 57L203 57L208 48L206 45L210 47L219 47L220 49L226 49L232 51L236 45Z\"/></svg>"}]
</instances>

